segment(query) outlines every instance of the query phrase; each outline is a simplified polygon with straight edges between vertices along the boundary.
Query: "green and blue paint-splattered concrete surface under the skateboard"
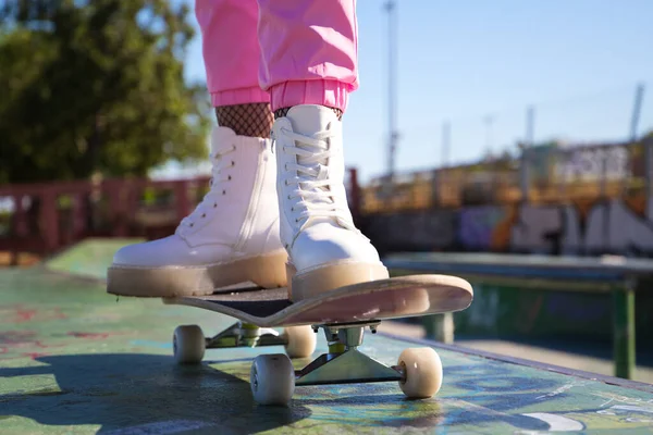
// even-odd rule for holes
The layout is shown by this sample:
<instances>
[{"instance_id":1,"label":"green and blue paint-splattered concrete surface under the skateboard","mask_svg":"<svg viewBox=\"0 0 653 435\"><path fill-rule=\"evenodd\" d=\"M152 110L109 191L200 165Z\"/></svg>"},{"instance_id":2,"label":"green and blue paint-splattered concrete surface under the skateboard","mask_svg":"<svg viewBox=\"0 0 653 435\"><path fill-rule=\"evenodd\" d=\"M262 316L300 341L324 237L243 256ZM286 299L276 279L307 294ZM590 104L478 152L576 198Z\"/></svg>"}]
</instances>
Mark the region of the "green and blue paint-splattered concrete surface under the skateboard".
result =
<instances>
[{"instance_id":1,"label":"green and blue paint-splattered concrete surface under the skateboard","mask_svg":"<svg viewBox=\"0 0 653 435\"><path fill-rule=\"evenodd\" d=\"M187 323L214 333L231 320L157 299L116 300L100 283L44 269L0 271L0 433L653 431L653 389L445 349L432 399L406 400L383 383L298 387L289 407L259 407L251 359L282 349L209 350L201 365L177 366L170 339ZM361 350L393 364L412 346L369 335Z\"/></svg>"}]
</instances>

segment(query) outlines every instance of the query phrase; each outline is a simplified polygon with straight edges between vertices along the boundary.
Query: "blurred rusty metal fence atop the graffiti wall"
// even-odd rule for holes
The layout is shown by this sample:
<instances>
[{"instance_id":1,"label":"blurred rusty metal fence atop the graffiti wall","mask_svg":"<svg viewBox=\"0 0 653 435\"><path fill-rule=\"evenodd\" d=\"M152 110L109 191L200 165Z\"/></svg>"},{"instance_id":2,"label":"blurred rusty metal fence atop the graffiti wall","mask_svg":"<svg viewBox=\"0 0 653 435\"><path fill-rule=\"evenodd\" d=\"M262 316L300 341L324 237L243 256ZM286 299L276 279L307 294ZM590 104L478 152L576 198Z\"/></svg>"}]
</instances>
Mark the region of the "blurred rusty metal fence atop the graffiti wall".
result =
<instances>
[{"instance_id":1,"label":"blurred rusty metal fence atop the graffiti wall","mask_svg":"<svg viewBox=\"0 0 653 435\"><path fill-rule=\"evenodd\" d=\"M522 148L516 159L373 179L361 188L361 213L463 206L565 203L648 197L652 140Z\"/></svg>"}]
</instances>

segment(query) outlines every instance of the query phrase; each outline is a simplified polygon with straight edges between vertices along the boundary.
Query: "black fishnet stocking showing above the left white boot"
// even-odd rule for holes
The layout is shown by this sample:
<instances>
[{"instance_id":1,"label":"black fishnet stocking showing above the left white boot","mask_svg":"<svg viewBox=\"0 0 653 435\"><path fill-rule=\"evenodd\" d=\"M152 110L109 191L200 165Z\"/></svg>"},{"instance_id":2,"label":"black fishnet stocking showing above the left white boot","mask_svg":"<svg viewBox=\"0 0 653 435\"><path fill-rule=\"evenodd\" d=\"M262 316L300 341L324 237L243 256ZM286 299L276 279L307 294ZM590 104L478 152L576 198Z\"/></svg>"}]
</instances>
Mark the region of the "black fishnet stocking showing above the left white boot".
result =
<instances>
[{"instance_id":1,"label":"black fishnet stocking showing above the left white boot","mask_svg":"<svg viewBox=\"0 0 653 435\"><path fill-rule=\"evenodd\" d=\"M221 105L215 108L218 125L229 127L238 136L270 137L274 116L270 103Z\"/></svg>"}]
</instances>

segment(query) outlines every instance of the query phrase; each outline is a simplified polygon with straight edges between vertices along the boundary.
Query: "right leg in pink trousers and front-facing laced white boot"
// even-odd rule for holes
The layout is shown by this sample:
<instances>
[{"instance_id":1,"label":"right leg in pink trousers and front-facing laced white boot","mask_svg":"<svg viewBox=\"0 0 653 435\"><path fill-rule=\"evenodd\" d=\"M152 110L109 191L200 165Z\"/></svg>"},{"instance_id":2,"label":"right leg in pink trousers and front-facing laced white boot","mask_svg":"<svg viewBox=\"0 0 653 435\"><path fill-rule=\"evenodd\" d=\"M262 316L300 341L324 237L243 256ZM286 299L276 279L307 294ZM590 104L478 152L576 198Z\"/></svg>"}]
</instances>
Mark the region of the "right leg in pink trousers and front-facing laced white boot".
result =
<instances>
[{"instance_id":1,"label":"right leg in pink trousers and front-facing laced white boot","mask_svg":"<svg viewBox=\"0 0 653 435\"><path fill-rule=\"evenodd\" d=\"M259 0L259 80L275 122L281 240L293 300L387 278L347 204L341 115L358 86L354 0Z\"/></svg>"}]
</instances>

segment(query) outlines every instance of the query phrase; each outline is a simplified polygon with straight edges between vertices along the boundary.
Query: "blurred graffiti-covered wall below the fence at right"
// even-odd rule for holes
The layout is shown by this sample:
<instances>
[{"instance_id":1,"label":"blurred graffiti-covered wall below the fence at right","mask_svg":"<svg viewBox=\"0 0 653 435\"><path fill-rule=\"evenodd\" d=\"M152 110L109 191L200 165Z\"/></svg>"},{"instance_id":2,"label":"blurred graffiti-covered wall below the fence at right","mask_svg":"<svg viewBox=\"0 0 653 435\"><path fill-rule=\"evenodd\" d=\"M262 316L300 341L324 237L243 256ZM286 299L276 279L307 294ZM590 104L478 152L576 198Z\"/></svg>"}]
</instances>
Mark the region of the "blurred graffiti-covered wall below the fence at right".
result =
<instances>
[{"instance_id":1,"label":"blurred graffiti-covered wall below the fence at right","mask_svg":"<svg viewBox=\"0 0 653 435\"><path fill-rule=\"evenodd\" d=\"M392 250L470 250L653 257L645 198L560 206L485 206L368 217L375 245Z\"/></svg>"}]
</instances>

